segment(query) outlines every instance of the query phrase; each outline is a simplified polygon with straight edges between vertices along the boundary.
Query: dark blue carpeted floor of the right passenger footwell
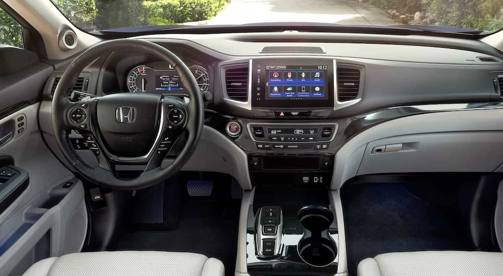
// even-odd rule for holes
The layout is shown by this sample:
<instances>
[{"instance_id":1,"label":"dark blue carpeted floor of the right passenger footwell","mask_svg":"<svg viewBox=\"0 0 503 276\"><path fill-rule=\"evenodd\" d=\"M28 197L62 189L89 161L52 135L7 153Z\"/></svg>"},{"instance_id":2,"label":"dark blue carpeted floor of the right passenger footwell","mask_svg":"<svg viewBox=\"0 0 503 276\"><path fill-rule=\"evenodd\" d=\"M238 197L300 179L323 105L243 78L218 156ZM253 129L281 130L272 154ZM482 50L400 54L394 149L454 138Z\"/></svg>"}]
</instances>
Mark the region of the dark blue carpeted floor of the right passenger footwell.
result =
<instances>
[{"instance_id":1,"label":"dark blue carpeted floor of the right passenger footwell","mask_svg":"<svg viewBox=\"0 0 503 276\"><path fill-rule=\"evenodd\" d=\"M473 250L455 207L434 207L401 184L349 185L342 189L348 268L380 253Z\"/></svg>"}]
</instances>

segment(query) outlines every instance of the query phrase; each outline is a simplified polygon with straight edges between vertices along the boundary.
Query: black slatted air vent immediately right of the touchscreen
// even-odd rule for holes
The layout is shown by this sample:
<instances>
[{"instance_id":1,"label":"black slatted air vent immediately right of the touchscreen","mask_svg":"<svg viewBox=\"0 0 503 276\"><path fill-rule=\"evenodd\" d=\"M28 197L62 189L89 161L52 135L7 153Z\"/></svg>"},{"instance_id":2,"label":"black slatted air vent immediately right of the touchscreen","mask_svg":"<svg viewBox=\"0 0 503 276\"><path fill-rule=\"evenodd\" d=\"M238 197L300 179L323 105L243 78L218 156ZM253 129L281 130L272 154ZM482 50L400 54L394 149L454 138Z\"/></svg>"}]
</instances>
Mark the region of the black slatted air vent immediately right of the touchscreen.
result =
<instances>
[{"instance_id":1,"label":"black slatted air vent immediately right of the touchscreen","mask_svg":"<svg viewBox=\"0 0 503 276\"><path fill-rule=\"evenodd\" d=\"M356 99L360 92L360 69L337 67L337 99L340 102Z\"/></svg>"}]
</instances>

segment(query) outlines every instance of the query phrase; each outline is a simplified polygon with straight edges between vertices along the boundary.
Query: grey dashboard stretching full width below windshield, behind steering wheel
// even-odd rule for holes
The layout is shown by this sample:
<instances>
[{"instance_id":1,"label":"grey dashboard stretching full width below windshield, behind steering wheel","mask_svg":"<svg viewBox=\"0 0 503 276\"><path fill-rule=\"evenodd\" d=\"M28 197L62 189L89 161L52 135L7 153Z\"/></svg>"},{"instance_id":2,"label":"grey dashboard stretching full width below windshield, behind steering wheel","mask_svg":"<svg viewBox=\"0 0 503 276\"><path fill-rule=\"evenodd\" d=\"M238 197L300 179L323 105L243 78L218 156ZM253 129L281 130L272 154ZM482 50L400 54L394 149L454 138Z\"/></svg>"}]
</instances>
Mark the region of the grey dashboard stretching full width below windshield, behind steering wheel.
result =
<instances>
[{"instance_id":1,"label":"grey dashboard stretching full width below windshield, behind steering wheel","mask_svg":"<svg viewBox=\"0 0 503 276\"><path fill-rule=\"evenodd\" d=\"M140 38L179 56L201 91L211 95L204 97L206 132L197 162L187 170L229 173L246 189L269 181L272 172L284 173L282 180L294 184L314 184L314 179L320 184L321 178L337 189L359 172L451 172L477 166L493 171L503 161L503 152L486 151L493 140L481 137L485 142L479 145L469 136L481 121L444 119L466 110L459 112L470 117L459 122L484 120L473 112L502 106L503 55L482 42L327 33ZM48 80L46 100L63 70ZM186 97L174 68L141 52L100 57L80 78L78 89L98 96ZM460 141L435 136L456 129L467 131Z\"/></svg>"}]
</instances>

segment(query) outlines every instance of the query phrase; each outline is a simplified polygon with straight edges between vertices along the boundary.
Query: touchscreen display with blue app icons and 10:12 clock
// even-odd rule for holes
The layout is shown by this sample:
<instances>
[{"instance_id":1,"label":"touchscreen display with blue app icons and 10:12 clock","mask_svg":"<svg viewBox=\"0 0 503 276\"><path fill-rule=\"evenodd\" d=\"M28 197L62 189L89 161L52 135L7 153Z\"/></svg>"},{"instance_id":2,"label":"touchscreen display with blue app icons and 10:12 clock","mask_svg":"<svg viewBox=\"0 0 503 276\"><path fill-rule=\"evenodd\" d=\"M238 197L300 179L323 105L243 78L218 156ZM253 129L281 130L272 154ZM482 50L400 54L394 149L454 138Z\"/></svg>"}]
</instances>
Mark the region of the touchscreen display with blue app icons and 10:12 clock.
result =
<instances>
[{"instance_id":1,"label":"touchscreen display with blue app icons and 10:12 clock","mask_svg":"<svg viewBox=\"0 0 503 276\"><path fill-rule=\"evenodd\" d=\"M253 107L333 106L333 61L267 59L252 61Z\"/></svg>"}]
</instances>

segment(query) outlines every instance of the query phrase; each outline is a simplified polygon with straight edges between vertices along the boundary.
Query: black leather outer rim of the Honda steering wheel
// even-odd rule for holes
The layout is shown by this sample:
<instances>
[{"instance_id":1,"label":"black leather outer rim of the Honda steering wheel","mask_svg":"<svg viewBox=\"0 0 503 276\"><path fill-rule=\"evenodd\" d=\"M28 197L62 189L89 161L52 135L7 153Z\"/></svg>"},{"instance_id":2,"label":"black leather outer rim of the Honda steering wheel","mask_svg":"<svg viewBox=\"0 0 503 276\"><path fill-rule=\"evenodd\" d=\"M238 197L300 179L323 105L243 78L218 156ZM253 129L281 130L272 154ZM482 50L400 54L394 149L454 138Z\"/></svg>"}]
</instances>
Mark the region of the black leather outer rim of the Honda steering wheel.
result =
<instances>
[{"instance_id":1,"label":"black leather outer rim of the Honda steering wheel","mask_svg":"<svg viewBox=\"0 0 503 276\"><path fill-rule=\"evenodd\" d=\"M175 70L180 76L180 81L184 84L190 101L187 104L187 124L186 131L188 132L187 142L180 152L178 157L169 166L162 168L161 166L144 171L141 175L134 179L123 179L117 177L113 172L104 168L93 168L85 163L77 154L70 143L68 134L70 130L66 127L68 110L68 97L72 91L72 87L78 75L88 64L96 60L98 57L108 55L115 51L135 51L143 52L159 58L161 61L173 64ZM161 114L164 116L164 114ZM174 53L166 48L139 39L116 39L111 41L101 42L87 49L73 60L66 68L59 83L54 91L52 101L52 125L56 144L61 150L65 159L70 165L85 177L87 180L114 189L140 189L158 184L176 172L188 162L194 153L199 142L200 135L204 124L204 105L199 86L190 69L185 63Z\"/></svg>"}]
</instances>

